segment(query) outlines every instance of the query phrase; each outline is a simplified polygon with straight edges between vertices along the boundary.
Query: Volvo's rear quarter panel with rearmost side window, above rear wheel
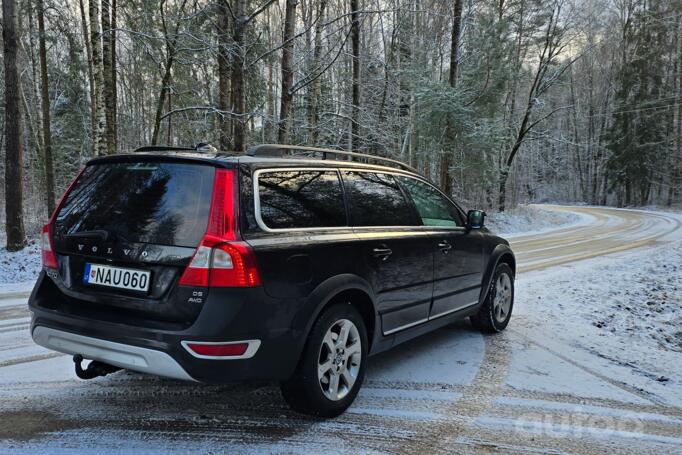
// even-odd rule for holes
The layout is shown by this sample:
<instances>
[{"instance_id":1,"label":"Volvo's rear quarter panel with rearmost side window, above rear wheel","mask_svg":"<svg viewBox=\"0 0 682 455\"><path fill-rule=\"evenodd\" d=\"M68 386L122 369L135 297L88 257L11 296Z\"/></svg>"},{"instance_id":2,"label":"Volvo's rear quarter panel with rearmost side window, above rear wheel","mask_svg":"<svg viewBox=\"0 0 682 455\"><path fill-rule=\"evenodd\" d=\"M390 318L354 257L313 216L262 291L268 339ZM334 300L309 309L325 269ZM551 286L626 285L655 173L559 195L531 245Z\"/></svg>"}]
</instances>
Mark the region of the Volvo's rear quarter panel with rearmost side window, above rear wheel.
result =
<instances>
[{"instance_id":1,"label":"Volvo's rear quarter panel with rearmost side window, above rear wheel","mask_svg":"<svg viewBox=\"0 0 682 455\"><path fill-rule=\"evenodd\" d=\"M246 170L241 186L242 234L269 295L305 298L324 280L357 268L338 170L271 168L253 177Z\"/></svg>"}]
</instances>

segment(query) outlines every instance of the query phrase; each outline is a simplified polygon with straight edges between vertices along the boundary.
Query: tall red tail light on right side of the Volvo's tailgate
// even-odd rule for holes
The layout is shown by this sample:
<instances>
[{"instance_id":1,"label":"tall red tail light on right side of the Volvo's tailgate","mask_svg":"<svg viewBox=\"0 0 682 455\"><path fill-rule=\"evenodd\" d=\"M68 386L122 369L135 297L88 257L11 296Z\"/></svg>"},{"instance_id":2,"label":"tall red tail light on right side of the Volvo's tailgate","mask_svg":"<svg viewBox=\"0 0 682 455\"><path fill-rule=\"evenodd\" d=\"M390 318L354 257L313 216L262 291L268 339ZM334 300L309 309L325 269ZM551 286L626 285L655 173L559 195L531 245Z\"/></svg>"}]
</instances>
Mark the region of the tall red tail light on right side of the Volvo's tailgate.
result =
<instances>
[{"instance_id":1,"label":"tall red tail light on right side of the Volvo's tailgate","mask_svg":"<svg viewBox=\"0 0 682 455\"><path fill-rule=\"evenodd\" d=\"M251 287L261 284L251 247L238 238L236 171L216 170L206 235L180 277L183 286Z\"/></svg>"}]
</instances>

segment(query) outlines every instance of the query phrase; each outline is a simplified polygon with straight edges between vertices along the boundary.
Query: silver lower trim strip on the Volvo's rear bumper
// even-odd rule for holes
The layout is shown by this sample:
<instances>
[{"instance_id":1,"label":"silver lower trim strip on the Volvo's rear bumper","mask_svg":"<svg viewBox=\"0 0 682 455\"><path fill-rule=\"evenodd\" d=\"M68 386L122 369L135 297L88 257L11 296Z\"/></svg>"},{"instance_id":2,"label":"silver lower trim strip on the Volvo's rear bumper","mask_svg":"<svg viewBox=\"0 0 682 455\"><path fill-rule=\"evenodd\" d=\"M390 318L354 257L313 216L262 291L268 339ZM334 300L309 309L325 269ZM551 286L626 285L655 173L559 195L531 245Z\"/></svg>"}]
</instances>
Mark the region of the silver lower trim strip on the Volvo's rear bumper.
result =
<instances>
[{"instance_id":1,"label":"silver lower trim strip on the Volvo's rear bumper","mask_svg":"<svg viewBox=\"0 0 682 455\"><path fill-rule=\"evenodd\" d=\"M37 326L32 336L37 344L53 351L80 354L85 359L99 360L141 373L194 381L180 364L165 352L76 335L43 326Z\"/></svg>"}]
</instances>

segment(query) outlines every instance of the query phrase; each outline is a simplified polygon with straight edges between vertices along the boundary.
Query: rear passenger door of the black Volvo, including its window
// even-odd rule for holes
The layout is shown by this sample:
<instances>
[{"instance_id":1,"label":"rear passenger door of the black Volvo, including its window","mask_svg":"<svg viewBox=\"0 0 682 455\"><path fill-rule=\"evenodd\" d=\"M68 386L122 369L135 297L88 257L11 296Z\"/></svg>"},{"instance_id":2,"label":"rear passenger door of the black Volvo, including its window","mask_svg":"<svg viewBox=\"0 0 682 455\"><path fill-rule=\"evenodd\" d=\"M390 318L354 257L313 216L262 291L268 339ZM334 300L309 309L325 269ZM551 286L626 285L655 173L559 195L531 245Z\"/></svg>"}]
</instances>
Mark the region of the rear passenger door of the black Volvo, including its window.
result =
<instances>
[{"instance_id":1,"label":"rear passenger door of the black Volvo, including its window","mask_svg":"<svg viewBox=\"0 0 682 455\"><path fill-rule=\"evenodd\" d=\"M343 171L342 176L383 333L426 322L433 290L432 239L418 226L392 174Z\"/></svg>"}]
</instances>

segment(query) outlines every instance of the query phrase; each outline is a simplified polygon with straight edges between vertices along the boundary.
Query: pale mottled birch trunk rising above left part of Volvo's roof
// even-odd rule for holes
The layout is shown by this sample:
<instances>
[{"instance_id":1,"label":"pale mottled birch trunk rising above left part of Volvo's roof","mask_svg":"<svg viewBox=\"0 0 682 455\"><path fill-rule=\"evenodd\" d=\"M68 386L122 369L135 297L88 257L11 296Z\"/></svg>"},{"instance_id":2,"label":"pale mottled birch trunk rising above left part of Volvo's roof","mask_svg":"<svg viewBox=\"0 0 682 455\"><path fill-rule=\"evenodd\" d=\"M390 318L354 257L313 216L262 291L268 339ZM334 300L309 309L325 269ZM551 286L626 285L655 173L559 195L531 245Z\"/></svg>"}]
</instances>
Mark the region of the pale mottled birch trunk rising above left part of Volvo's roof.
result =
<instances>
[{"instance_id":1,"label":"pale mottled birch trunk rising above left part of Volvo's roof","mask_svg":"<svg viewBox=\"0 0 682 455\"><path fill-rule=\"evenodd\" d=\"M106 0L105 0L106 1ZM100 30L99 0L90 0L90 46L92 48L92 76L95 83L94 154L107 154L106 113L104 111L104 69L102 66L102 32Z\"/></svg>"}]
</instances>

